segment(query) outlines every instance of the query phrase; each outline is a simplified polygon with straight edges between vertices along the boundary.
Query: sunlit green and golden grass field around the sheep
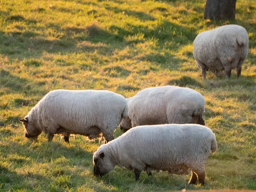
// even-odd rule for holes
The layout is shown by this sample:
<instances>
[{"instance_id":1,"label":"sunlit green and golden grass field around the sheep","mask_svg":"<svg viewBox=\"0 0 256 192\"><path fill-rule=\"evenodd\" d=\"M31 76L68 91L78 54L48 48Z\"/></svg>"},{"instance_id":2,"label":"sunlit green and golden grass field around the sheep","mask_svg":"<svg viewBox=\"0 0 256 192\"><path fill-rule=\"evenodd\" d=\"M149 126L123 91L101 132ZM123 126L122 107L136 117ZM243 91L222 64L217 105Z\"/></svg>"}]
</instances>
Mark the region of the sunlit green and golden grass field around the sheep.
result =
<instances>
[{"instance_id":1,"label":"sunlit green and golden grass field around the sheep","mask_svg":"<svg viewBox=\"0 0 256 192\"><path fill-rule=\"evenodd\" d=\"M163 191L256 189L256 1L238 0L236 20L204 20L204 0L1 0L0 189L2 191ZM241 77L215 79L193 59L199 32L239 24L249 35ZM50 90L111 90L125 97L178 85L206 99L204 119L218 141L206 185L188 176L116 167L93 176L99 141L27 140L18 118ZM115 137L121 134L118 128Z\"/></svg>"}]
</instances>

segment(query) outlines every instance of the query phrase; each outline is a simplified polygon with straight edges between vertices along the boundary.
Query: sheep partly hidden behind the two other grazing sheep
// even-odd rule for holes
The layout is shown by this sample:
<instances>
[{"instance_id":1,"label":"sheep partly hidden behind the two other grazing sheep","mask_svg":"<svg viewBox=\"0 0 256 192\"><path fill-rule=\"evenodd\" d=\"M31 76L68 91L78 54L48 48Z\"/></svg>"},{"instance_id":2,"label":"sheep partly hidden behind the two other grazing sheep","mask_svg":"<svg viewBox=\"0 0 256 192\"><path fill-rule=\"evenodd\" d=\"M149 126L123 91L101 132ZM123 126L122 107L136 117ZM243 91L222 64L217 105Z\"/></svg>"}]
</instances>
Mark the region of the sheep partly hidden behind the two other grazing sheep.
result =
<instances>
[{"instance_id":1,"label":"sheep partly hidden behind the two other grazing sheep","mask_svg":"<svg viewBox=\"0 0 256 192\"><path fill-rule=\"evenodd\" d=\"M139 125L166 123L204 124L205 99L195 90L176 87L150 87L127 100L128 117L122 119L122 131Z\"/></svg>"}]
</instances>

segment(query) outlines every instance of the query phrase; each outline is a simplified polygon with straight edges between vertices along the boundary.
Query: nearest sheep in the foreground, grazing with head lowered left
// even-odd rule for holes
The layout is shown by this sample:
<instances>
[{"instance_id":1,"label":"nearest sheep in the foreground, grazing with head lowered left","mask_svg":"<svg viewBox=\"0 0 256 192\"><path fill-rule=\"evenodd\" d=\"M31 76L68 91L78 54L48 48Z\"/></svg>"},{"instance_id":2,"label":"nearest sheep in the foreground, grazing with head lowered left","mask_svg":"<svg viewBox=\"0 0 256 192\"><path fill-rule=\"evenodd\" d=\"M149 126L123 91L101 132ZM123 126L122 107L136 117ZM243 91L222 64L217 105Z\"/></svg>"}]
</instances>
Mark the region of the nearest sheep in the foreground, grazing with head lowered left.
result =
<instances>
[{"instance_id":1,"label":"nearest sheep in the foreground, grazing with head lowered left","mask_svg":"<svg viewBox=\"0 0 256 192\"><path fill-rule=\"evenodd\" d=\"M189 184L204 185L205 162L215 153L217 142L212 130L198 124L143 125L101 145L93 154L93 174L102 176L116 165L133 170L135 180L151 169L192 177Z\"/></svg>"}]
</instances>

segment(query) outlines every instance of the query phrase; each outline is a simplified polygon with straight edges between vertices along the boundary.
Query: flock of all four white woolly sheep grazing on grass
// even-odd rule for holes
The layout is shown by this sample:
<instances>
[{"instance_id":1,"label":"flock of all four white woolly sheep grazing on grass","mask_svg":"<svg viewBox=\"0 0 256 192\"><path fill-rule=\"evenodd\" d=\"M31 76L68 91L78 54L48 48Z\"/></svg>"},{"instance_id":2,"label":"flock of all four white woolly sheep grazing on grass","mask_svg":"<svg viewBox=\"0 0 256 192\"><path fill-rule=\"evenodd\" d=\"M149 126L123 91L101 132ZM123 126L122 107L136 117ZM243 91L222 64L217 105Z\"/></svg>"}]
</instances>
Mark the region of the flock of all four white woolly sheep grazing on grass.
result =
<instances>
[{"instance_id":1,"label":"flock of all four white woolly sheep grazing on grass","mask_svg":"<svg viewBox=\"0 0 256 192\"><path fill-rule=\"evenodd\" d=\"M248 55L248 35L242 26L226 25L201 32L194 41L193 55L203 79L237 78ZM54 134L80 134L90 140L104 137L105 144L93 154L93 174L105 175L116 165L140 173L154 170L187 175L189 184L204 185L205 162L217 150L215 134L205 125L205 99L195 90L148 87L130 98L108 90L52 90L19 119L25 137L36 139L42 132L52 141ZM123 133L114 139L120 127Z\"/></svg>"}]
</instances>

